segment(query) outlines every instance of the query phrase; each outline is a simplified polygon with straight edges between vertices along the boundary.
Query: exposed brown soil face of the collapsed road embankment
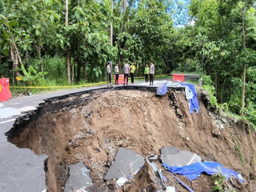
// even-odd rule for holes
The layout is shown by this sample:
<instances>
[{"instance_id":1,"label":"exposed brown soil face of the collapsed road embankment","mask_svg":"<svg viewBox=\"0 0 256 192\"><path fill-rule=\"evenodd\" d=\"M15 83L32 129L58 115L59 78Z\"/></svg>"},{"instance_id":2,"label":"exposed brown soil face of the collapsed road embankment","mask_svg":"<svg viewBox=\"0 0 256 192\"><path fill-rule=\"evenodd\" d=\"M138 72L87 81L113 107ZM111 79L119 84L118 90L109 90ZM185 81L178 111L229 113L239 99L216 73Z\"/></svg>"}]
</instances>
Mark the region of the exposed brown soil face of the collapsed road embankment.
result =
<instances>
[{"instance_id":1,"label":"exposed brown soil face of the collapsed road embankment","mask_svg":"<svg viewBox=\"0 0 256 192\"><path fill-rule=\"evenodd\" d=\"M96 95L99 92L89 96ZM30 117L28 124L16 125L10 132L10 142L18 147L49 156L48 191L63 190L68 166L81 160L92 170L94 187L88 191L120 191L103 180L118 148L146 157L150 153L160 155L164 146L189 150L204 160L222 163L246 179L237 191L255 190L255 134L244 122L209 113L204 91L198 90L197 115L189 113L185 93L179 90L168 90L163 97L145 90L114 90L88 100L84 97L88 95L49 102ZM193 182L179 177L195 191L211 190L209 176L202 175ZM146 176L136 178L134 184L122 190L152 189L152 184L146 187L145 183L152 182ZM168 184L186 191L171 177Z\"/></svg>"}]
</instances>

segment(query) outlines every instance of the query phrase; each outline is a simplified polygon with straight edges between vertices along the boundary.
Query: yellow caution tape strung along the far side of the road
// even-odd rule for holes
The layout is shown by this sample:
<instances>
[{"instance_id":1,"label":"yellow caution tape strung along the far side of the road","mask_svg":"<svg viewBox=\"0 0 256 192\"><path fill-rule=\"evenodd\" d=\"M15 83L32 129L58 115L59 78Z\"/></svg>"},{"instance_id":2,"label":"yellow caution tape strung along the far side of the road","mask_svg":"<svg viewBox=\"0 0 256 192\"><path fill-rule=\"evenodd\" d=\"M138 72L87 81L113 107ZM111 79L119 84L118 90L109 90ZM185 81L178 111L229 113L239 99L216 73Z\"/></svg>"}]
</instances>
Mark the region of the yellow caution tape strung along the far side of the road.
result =
<instances>
[{"instance_id":1,"label":"yellow caution tape strung along the far side of the road","mask_svg":"<svg viewBox=\"0 0 256 192\"><path fill-rule=\"evenodd\" d=\"M154 77L162 77L162 76L168 76L168 75L159 75ZM145 77L134 77L134 79L140 79ZM124 77L118 78L118 79L124 79ZM30 89L42 89L42 88L72 88L72 87L86 87L86 86L95 86L99 84L106 84L105 82L100 83L90 83L90 84L78 84L78 85L67 85L67 86L9 86L9 88L30 88Z\"/></svg>"}]
</instances>

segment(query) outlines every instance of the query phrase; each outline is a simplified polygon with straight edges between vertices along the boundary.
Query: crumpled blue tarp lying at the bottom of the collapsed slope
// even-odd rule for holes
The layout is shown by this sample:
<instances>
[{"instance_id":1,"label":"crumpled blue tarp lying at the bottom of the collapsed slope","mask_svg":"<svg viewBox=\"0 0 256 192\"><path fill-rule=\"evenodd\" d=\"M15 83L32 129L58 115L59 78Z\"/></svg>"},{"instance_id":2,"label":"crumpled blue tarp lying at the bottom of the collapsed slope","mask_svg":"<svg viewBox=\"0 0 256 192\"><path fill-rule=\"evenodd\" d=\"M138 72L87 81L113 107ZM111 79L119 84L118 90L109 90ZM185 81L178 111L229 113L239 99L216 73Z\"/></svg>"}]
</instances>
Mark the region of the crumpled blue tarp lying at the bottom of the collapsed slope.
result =
<instances>
[{"instance_id":1,"label":"crumpled blue tarp lying at the bottom of the collapsed slope","mask_svg":"<svg viewBox=\"0 0 256 192\"><path fill-rule=\"evenodd\" d=\"M189 180L197 179L203 172L208 175L214 175L215 173L221 172L227 180L230 176L234 176L239 179L241 183L244 182L241 174L228 168L224 168L222 164L217 162L198 162L182 167L168 166L168 164L162 164L162 166L164 166L164 168L169 172L185 175Z\"/></svg>"}]
</instances>

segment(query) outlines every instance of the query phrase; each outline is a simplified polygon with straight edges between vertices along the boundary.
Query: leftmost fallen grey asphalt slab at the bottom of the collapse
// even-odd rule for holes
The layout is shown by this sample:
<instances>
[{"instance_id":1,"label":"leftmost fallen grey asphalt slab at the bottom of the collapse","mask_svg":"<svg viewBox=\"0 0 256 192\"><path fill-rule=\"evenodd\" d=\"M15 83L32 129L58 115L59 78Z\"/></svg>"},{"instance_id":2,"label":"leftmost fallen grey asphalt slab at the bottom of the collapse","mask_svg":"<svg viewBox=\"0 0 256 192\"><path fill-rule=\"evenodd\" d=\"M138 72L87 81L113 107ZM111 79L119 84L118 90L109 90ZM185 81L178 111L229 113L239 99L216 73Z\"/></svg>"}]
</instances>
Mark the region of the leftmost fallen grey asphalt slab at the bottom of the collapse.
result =
<instances>
[{"instance_id":1,"label":"leftmost fallen grey asphalt slab at the bottom of the collapse","mask_svg":"<svg viewBox=\"0 0 256 192\"><path fill-rule=\"evenodd\" d=\"M85 189L92 186L88 168L84 166L83 161L70 166L69 177L65 184L64 192L73 192L77 189Z\"/></svg>"}]
</instances>

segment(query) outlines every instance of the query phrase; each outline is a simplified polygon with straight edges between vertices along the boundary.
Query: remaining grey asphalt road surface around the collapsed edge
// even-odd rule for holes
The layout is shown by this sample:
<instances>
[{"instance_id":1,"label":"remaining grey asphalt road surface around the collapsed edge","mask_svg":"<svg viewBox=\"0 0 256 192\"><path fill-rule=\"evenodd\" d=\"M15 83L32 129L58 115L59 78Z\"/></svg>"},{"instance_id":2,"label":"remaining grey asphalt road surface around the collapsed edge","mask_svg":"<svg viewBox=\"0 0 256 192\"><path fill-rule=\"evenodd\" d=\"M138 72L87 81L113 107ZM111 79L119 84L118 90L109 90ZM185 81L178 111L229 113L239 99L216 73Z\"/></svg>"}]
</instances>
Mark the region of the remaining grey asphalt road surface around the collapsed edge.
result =
<instances>
[{"instance_id":1,"label":"remaining grey asphalt road surface around the collapsed edge","mask_svg":"<svg viewBox=\"0 0 256 192\"><path fill-rule=\"evenodd\" d=\"M196 75L185 75L186 79L198 79ZM170 81L172 79L156 79L155 81ZM137 81L135 86L140 86L143 81ZM123 85L118 85L123 86ZM159 84L154 84L159 86ZM77 92L84 92L87 90L106 88L105 86L93 86L88 88L78 88L75 90L65 90L52 93L44 93L40 95L32 95L28 97L20 97L10 99L4 104L4 108L22 109L22 115L28 113L26 110L31 110L31 107L38 107L40 103L44 103L44 99L51 97L59 97ZM19 116L0 119L0 191L1 192L42 192L47 188L45 186L45 171L44 161L46 155L37 156L28 148L18 148L12 143L8 142L5 135L12 129L15 119Z\"/></svg>"}]
</instances>

